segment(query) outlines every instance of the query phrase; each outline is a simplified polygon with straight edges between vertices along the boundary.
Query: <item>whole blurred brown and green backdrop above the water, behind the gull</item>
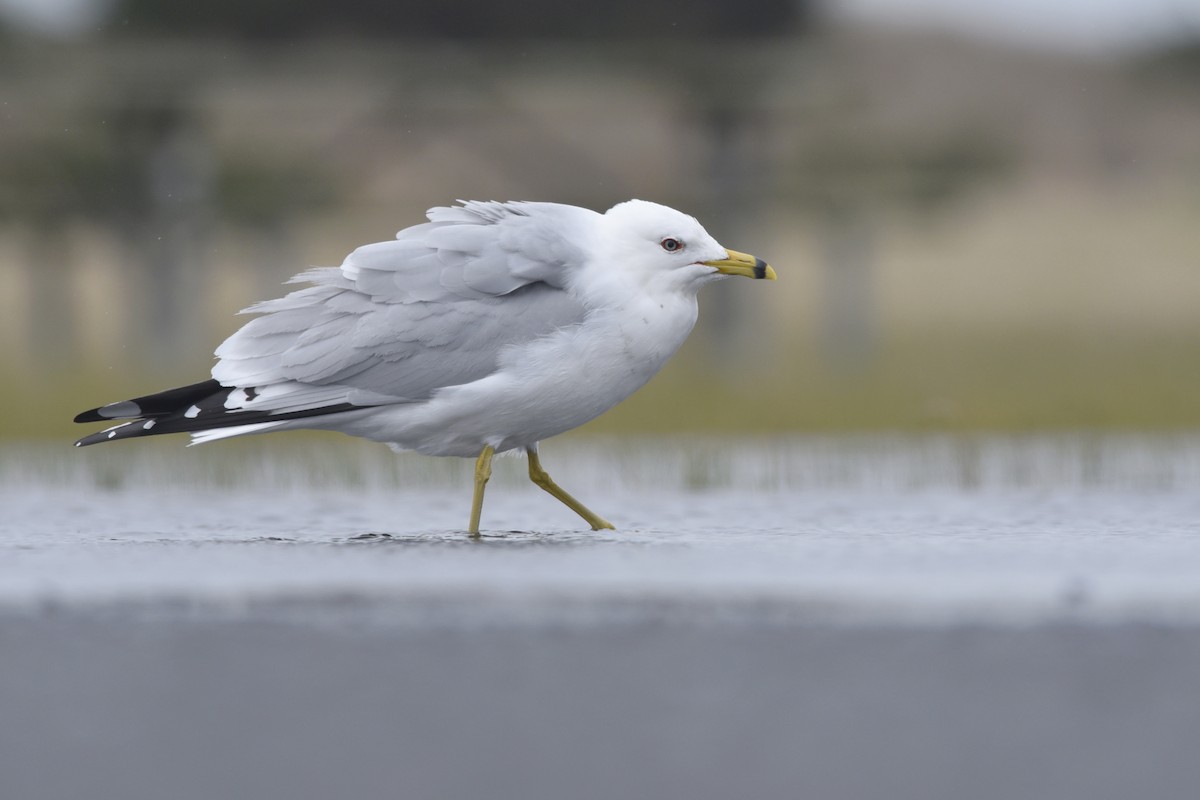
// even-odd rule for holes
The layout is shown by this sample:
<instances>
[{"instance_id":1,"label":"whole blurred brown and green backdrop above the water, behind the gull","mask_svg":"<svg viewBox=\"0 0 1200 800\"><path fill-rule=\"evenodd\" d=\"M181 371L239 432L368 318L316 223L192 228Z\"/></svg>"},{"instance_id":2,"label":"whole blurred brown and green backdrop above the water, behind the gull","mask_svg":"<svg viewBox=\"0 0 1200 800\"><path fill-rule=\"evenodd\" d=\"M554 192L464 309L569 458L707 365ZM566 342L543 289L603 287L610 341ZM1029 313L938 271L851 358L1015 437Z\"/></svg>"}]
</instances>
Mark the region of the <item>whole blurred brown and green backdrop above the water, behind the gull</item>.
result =
<instances>
[{"instance_id":1,"label":"whole blurred brown and green backdrop above the water, behind the gull","mask_svg":"<svg viewBox=\"0 0 1200 800\"><path fill-rule=\"evenodd\" d=\"M205 378L457 198L658 200L778 269L584 431L1200 427L1200 26L1062 5L4 0L0 437Z\"/></svg>"}]
</instances>

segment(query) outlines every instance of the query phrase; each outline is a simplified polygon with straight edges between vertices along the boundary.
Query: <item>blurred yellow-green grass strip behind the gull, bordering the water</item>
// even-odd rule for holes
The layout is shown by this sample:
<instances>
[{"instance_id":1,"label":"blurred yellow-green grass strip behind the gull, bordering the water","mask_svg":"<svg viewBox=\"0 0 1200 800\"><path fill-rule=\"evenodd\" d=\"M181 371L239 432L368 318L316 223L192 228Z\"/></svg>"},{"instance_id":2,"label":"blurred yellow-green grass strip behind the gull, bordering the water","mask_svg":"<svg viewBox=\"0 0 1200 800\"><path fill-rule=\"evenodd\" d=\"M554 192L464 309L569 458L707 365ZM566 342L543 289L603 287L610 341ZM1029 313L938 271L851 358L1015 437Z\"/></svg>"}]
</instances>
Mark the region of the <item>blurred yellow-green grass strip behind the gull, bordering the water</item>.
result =
<instances>
[{"instance_id":1,"label":"blurred yellow-green grass strip behind the gull, bordering the water","mask_svg":"<svg viewBox=\"0 0 1200 800\"><path fill-rule=\"evenodd\" d=\"M910 337L839 369L815 349L791 347L740 377L712 366L707 347L694 337L648 386L582 432L1200 428L1200 337ZM90 429L71 423L85 408L203 378L106 371L8 381L0 438L67 443Z\"/></svg>"}]
</instances>

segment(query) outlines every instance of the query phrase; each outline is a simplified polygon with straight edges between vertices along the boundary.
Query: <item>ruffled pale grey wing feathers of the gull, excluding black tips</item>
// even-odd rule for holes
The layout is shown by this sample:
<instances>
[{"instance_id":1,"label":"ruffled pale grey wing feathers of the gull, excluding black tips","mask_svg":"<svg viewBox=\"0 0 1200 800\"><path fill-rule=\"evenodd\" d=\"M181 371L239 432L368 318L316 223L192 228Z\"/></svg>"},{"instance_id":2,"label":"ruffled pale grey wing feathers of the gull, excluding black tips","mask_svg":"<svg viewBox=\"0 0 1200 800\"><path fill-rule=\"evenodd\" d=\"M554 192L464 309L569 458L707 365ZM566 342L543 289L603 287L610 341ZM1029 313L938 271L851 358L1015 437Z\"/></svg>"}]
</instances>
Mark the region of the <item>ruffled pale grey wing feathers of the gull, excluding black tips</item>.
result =
<instances>
[{"instance_id":1,"label":"ruffled pale grey wing feathers of the gull, excluding black tips","mask_svg":"<svg viewBox=\"0 0 1200 800\"><path fill-rule=\"evenodd\" d=\"M262 315L217 348L212 377L254 387L238 408L274 411L414 402L484 378L504 348L582 321L568 287L587 215L540 203L433 209L396 241L293 278L313 285L247 308Z\"/></svg>"}]
</instances>

